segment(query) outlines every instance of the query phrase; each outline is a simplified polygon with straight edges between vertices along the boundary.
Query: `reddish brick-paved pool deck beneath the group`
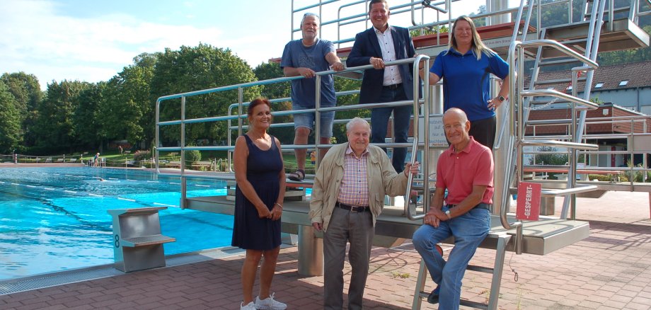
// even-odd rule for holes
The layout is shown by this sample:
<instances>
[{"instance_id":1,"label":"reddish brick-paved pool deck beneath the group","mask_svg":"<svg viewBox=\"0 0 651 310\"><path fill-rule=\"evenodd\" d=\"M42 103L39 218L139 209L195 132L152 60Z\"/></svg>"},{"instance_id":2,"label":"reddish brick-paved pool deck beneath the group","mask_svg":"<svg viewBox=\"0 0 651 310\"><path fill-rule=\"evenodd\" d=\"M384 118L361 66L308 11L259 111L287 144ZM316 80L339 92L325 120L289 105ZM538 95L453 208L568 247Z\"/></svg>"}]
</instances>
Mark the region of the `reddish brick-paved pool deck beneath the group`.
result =
<instances>
[{"instance_id":1,"label":"reddish brick-paved pool deck beneath the group","mask_svg":"<svg viewBox=\"0 0 651 310\"><path fill-rule=\"evenodd\" d=\"M557 198L557 215L561 203ZM650 309L648 203L648 193L577 198L577 219L590 222L590 236L547 256L507 253L498 309ZM472 263L489 266L493 258L493 251L479 249ZM295 246L281 250L272 285L276 298L288 309L323 309L323 277L298 275L297 259ZM242 262L238 253L5 294L0 295L0 309L238 309ZM419 262L410 243L374 248L365 309L410 309ZM348 282L350 265L344 271ZM461 296L484 302L488 281L488 275L466 272Z\"/></svg>"}]
</instances>

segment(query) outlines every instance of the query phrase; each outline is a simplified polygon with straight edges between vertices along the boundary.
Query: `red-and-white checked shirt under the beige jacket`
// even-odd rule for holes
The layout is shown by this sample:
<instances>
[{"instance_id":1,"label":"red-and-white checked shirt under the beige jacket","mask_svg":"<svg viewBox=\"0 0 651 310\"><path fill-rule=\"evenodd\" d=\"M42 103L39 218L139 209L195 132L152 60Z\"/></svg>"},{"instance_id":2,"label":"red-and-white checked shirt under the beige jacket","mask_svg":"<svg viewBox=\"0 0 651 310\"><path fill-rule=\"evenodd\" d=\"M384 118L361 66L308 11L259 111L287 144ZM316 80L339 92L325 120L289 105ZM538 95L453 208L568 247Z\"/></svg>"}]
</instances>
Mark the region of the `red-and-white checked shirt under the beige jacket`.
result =
<instances>
[{"instance_id":1,"label":"red-and-white checked shirt under the beige jacket","mask_svg":"<svg viewBox=\"0 0 651 310\"><path fill-rule=\"evenodd\" d=\"M350 148L346 149L344 178L339 188L338 201L345 205L369 205L369 181L367 179L367 158L369 149L364 149L362 156L355 156Z\"/></svg>"}]
</instances>

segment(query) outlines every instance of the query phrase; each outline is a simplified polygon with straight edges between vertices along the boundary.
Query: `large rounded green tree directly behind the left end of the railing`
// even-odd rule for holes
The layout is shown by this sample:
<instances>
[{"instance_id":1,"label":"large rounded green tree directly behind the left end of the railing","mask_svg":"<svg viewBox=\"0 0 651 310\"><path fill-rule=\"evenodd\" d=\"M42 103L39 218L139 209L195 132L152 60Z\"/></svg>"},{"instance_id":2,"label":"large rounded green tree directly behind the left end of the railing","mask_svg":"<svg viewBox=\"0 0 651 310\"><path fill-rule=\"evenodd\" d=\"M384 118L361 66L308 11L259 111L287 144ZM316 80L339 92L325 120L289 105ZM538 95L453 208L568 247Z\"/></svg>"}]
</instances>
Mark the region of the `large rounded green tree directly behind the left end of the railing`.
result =
<instances>
[{"instance_id":1,"label":"large rounded green tree directly behind the left end of the railing","mask_svg":"<svg viewBox=\"0 0 651 310\"><path fill-rule=\"evenodd\" d=\"M182 46L180 50L166 49L159 55L151 81L151 99L189 91L200 91L220 86L231 86L255 81L255 74L245 61L211 45ZM260 96L260 87L243 88L243 101ZM192 96L185 101L185 118L227 115L232 103L238 102L237 89ZM180 99L161 103L161 121L180 120ZM186 142L197 139L223 139L226 122L201 122L185 127ZM161 128L163 145L176 146L180 138L180 126Z\"/></svg>"}]
</instances>

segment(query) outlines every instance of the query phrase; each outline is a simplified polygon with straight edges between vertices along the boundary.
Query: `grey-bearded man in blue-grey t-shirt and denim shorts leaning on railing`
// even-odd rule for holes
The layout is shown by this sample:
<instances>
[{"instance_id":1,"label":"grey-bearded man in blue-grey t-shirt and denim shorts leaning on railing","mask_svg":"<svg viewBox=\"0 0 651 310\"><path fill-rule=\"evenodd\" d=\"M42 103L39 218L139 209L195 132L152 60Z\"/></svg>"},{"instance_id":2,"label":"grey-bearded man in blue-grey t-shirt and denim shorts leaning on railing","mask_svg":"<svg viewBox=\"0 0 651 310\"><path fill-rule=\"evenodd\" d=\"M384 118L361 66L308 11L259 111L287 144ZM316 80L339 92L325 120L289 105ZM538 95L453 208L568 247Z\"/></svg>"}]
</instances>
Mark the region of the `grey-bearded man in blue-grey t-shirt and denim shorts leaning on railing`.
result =
<instances>
[{"instance_id":1,"label":"grey-bearded man in blue-grey t-shirt and denim shorts leaning on railing","mask_svg":"<svg viewBox=\"0 0 651 310\"><path fill-rule=\"evenodd\" d=\"M301 21L303 38L289 41L282 52L280 67L285 76L303 76L303 79L292 81L292 109L313 109L316 106L316 72L328 71L330 66L335 71L341 71L344 65L337 56L333 43L317 38L319 28L318 15L305 13ZM321 107L333 107L337 103L335 97L335 82L332 75L321 76ZM294 114L294 144L307 144L307 138L312 130L314 113ZM330 144L333 136L334 112L319 113L320 130L319 144ZM326 154L321 152L320 157ZM289 173L289 180L303 180L305 177L306 149L296 149L298 169Z\"/></svg>"}]
</instances>

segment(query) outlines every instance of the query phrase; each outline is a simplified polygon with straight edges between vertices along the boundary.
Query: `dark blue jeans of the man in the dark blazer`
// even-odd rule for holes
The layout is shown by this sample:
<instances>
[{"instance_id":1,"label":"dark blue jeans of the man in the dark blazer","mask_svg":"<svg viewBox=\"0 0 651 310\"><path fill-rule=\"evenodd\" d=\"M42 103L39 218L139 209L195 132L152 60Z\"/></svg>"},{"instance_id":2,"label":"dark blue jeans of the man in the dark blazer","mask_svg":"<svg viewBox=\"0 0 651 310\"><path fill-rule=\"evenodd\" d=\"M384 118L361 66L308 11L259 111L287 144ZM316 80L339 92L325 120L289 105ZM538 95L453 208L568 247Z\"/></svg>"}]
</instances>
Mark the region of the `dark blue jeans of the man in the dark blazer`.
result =
<instances>
[{"instance_id":1,"label":"dark blue jeans of the man in the dark blazer","mask_svg":"<svg viewBox=\"0 0 651 310\"><path fill-rule=\"evenodd\" d=\"M401 85L396 89L382 88L382 94L378 102L404 100L407 100L407 95L405 95L405 89ZM413 107L411 105L374 108L371 110L371 143L384 143L386 129L388 127L388 117L391 116L391 112L393 112L393 132L396 134L396 143L407 142L412 111ZM386 151L386 148L383 149ZM405 169L407 149L405 147L394 148L392 157L391 163L393 164L393 168L396 169L396 172L401 173Z\"/></svg>"}]
</instances>

